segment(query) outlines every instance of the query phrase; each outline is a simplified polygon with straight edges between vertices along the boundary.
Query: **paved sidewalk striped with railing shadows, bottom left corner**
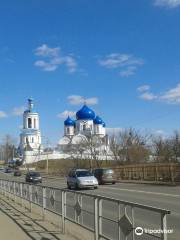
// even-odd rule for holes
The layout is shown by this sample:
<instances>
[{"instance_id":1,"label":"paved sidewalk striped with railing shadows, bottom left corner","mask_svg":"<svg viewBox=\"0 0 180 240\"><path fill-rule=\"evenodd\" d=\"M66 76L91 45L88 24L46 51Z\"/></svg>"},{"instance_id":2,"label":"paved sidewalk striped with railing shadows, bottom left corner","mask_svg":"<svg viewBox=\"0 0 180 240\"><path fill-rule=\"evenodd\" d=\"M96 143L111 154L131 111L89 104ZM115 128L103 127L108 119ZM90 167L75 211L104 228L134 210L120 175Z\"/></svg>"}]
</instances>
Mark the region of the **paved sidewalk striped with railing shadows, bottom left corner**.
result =
<instances>
[{"instance_id":1,"label":"paved sidewalk striped with railing shadows, bottom left corner","mask_svg":"<svg viewBox=\"0 0 180 240\"><path fill-rule=\"evenodd\" d=\"M0 195L0 239L2 240L73 240L63 235L38 215L7 201Z\"/></svg>"}]
</instances>

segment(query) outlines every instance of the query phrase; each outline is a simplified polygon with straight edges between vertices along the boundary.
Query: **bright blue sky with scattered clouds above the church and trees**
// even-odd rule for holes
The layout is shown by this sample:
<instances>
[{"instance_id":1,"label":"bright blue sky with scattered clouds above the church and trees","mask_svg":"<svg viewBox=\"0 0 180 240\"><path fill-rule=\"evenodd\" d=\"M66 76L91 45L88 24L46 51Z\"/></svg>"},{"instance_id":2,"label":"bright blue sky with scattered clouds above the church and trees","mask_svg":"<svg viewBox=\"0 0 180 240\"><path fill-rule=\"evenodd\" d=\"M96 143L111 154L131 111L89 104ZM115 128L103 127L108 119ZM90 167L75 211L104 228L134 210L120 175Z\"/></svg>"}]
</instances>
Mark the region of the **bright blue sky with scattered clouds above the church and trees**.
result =
<instances>
[{"instance_id":1,"label":"bright blue sky with scattered clouds above the church and trees","mask_svg":"<svg viewBox=\"0 0 180 240\"><path fill-rule=\"evenodd\" d=\"M180 127L180 0L0 3L0 138L32 96L56 143L84 98L108 128Z\"/></svg>"}]
</instances>

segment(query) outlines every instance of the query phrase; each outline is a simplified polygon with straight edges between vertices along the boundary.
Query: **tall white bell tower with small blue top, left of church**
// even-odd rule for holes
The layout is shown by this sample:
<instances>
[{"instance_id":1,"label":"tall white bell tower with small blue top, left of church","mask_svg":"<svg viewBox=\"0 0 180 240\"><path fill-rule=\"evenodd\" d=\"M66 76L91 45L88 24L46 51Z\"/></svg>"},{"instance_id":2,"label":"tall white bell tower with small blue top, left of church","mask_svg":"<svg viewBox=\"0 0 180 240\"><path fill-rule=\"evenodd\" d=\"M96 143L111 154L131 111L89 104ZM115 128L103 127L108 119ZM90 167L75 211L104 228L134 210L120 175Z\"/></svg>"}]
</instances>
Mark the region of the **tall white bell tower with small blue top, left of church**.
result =
<instances>
[{"instance_id":1,"label":"tall white bell tower with small blue top, left of church","mask_svg":"<svg viewBox=\"0 0 180 240\"><path fill-rule=\"evenodd\" d=\"M33 99L28 99L28 108L23 113L23 129L20 134L20 151L38 152L41 149L39 115L34 110Z\"/></svg>"}]
</instances>

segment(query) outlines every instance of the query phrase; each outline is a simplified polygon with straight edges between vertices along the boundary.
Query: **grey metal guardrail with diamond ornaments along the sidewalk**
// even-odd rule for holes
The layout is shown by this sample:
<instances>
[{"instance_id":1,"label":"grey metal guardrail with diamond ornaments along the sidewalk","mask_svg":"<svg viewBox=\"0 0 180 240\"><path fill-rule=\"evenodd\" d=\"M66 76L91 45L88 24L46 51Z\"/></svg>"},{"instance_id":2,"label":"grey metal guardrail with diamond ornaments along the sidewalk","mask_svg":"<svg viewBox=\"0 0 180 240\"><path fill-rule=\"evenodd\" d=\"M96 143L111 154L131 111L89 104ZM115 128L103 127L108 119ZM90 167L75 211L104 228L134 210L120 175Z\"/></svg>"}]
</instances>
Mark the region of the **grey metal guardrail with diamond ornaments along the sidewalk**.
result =
<instances>
[{"instance_id":1,"label":"grey metal guardrail with diamond ornaments along the sidewalk","mask_svg":"<svg viewBox=\"0 0 180 240\"><path fill-rule=\"evenodd\" d=\"M94 239L148 239L167 240L167 214L170 211L122 201L82 191L72 191L26 184L0 179L0 193L12 198L26 200L32 211L33 204L42 208L42 215L50 211L61 216L62 232L65 233L66 221L78 224L94 233ZM144 232L135 235L135 228L159 229L156 234Z\"/></svg>"}]
</instances>

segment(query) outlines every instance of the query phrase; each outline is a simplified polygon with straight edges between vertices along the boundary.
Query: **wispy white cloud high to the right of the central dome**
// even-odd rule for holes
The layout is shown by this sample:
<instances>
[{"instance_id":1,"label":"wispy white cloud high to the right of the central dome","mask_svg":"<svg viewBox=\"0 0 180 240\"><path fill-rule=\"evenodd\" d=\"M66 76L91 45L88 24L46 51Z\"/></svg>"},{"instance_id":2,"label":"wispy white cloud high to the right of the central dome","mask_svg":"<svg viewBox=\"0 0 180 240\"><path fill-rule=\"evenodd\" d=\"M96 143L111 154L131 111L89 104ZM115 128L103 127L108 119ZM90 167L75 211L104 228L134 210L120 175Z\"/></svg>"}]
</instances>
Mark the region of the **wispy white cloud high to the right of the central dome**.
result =
<instances>
[{"instance_id":1,"label":"wispy white cloud high to the right of the central dome","mask_svg":"<svg viewBox=\"0 0 180 240\"><path fill-rule=\"evenodd\" d=\"M129 77L135 74L138 66L144 64L144 60L131 54L111 53L99 59L98 63L108 69L118 69L122 77Z\"/></svg>"}]
</instances>

